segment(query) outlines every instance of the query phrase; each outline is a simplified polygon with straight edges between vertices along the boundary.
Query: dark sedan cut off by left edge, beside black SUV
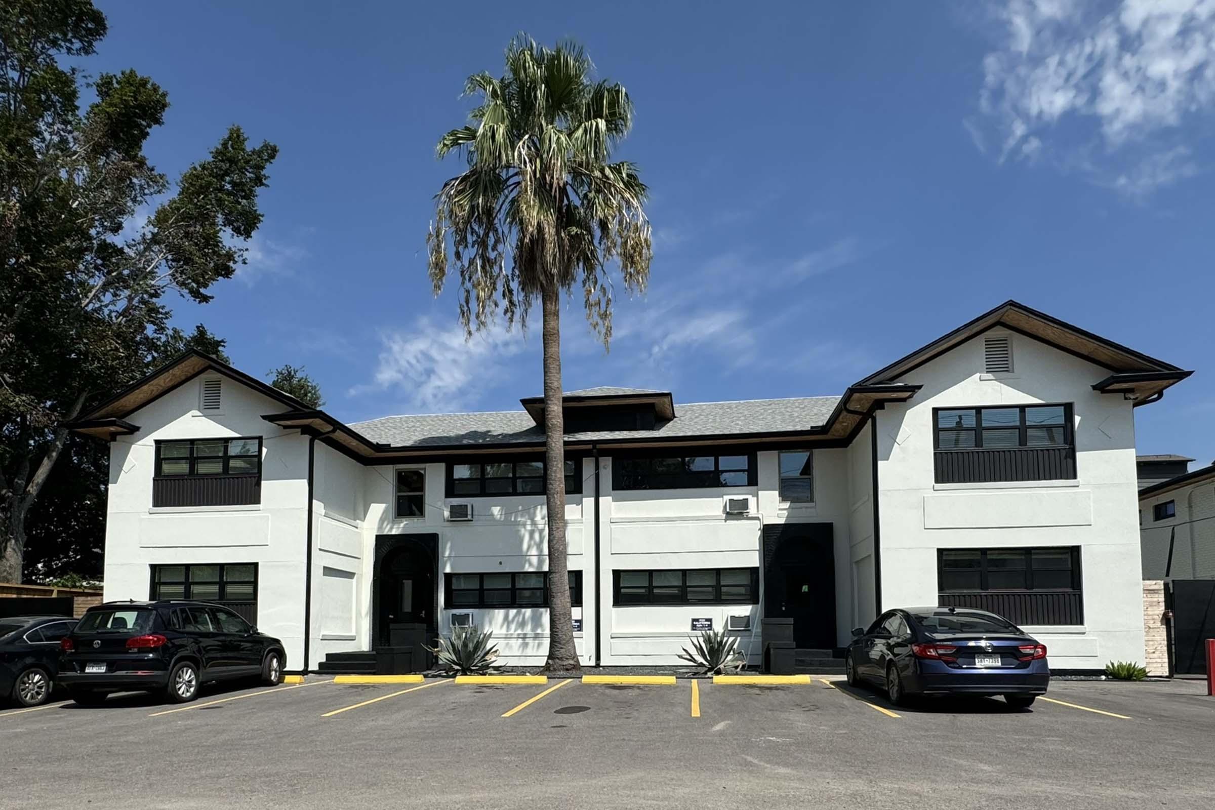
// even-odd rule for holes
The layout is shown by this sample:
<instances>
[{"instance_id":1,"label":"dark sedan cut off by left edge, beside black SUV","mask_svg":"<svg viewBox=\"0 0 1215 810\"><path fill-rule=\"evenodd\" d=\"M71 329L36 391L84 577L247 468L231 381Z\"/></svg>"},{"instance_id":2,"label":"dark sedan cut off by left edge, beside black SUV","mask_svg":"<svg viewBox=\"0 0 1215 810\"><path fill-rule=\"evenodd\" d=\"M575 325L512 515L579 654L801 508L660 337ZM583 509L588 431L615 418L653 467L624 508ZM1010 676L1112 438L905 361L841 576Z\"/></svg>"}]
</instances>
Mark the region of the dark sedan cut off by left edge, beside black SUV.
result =
<instances>
[{"instance_id":1,"label":"dark sedan cut off by left edge, beside black SUV","mask_svg":"<svg viewBox=\"0 0 1215 810\"><path fill-rule=\"evenodd\" d=\"M60 639L75 627L70 616L0 618L0 699L41 706L51 697Z\"/></svg>"}]
</instances>

